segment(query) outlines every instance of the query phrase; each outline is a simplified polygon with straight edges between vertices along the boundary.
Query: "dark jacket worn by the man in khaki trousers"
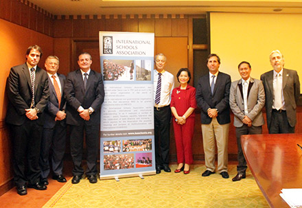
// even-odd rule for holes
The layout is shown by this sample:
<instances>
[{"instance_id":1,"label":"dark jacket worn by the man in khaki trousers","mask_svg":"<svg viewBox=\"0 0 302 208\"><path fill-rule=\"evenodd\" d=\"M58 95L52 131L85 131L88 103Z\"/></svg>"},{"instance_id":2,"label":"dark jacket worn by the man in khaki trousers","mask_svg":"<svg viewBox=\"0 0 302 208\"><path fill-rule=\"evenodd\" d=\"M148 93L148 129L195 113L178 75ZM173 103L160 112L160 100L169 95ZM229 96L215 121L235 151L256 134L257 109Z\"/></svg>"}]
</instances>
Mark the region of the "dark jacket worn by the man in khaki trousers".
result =
<instances>
[{"instance_id":1,"label":"dark jacket worn by the man in khaki trousers","mask_svg":"<svg viewBox=\"0 0 302 208\"><path fill-rule=\"evenodd\" d=\"M229 108L231 76L227 73L218 73L213 95L209 80L209 73L207 73L205 76L199 78L196 88L196 101L201 109L201 124L211 123L212 118L207 115L209 108L218 109L217 120L219 124L229 124L231 122Z\"/></svg>"}]
</instances>

